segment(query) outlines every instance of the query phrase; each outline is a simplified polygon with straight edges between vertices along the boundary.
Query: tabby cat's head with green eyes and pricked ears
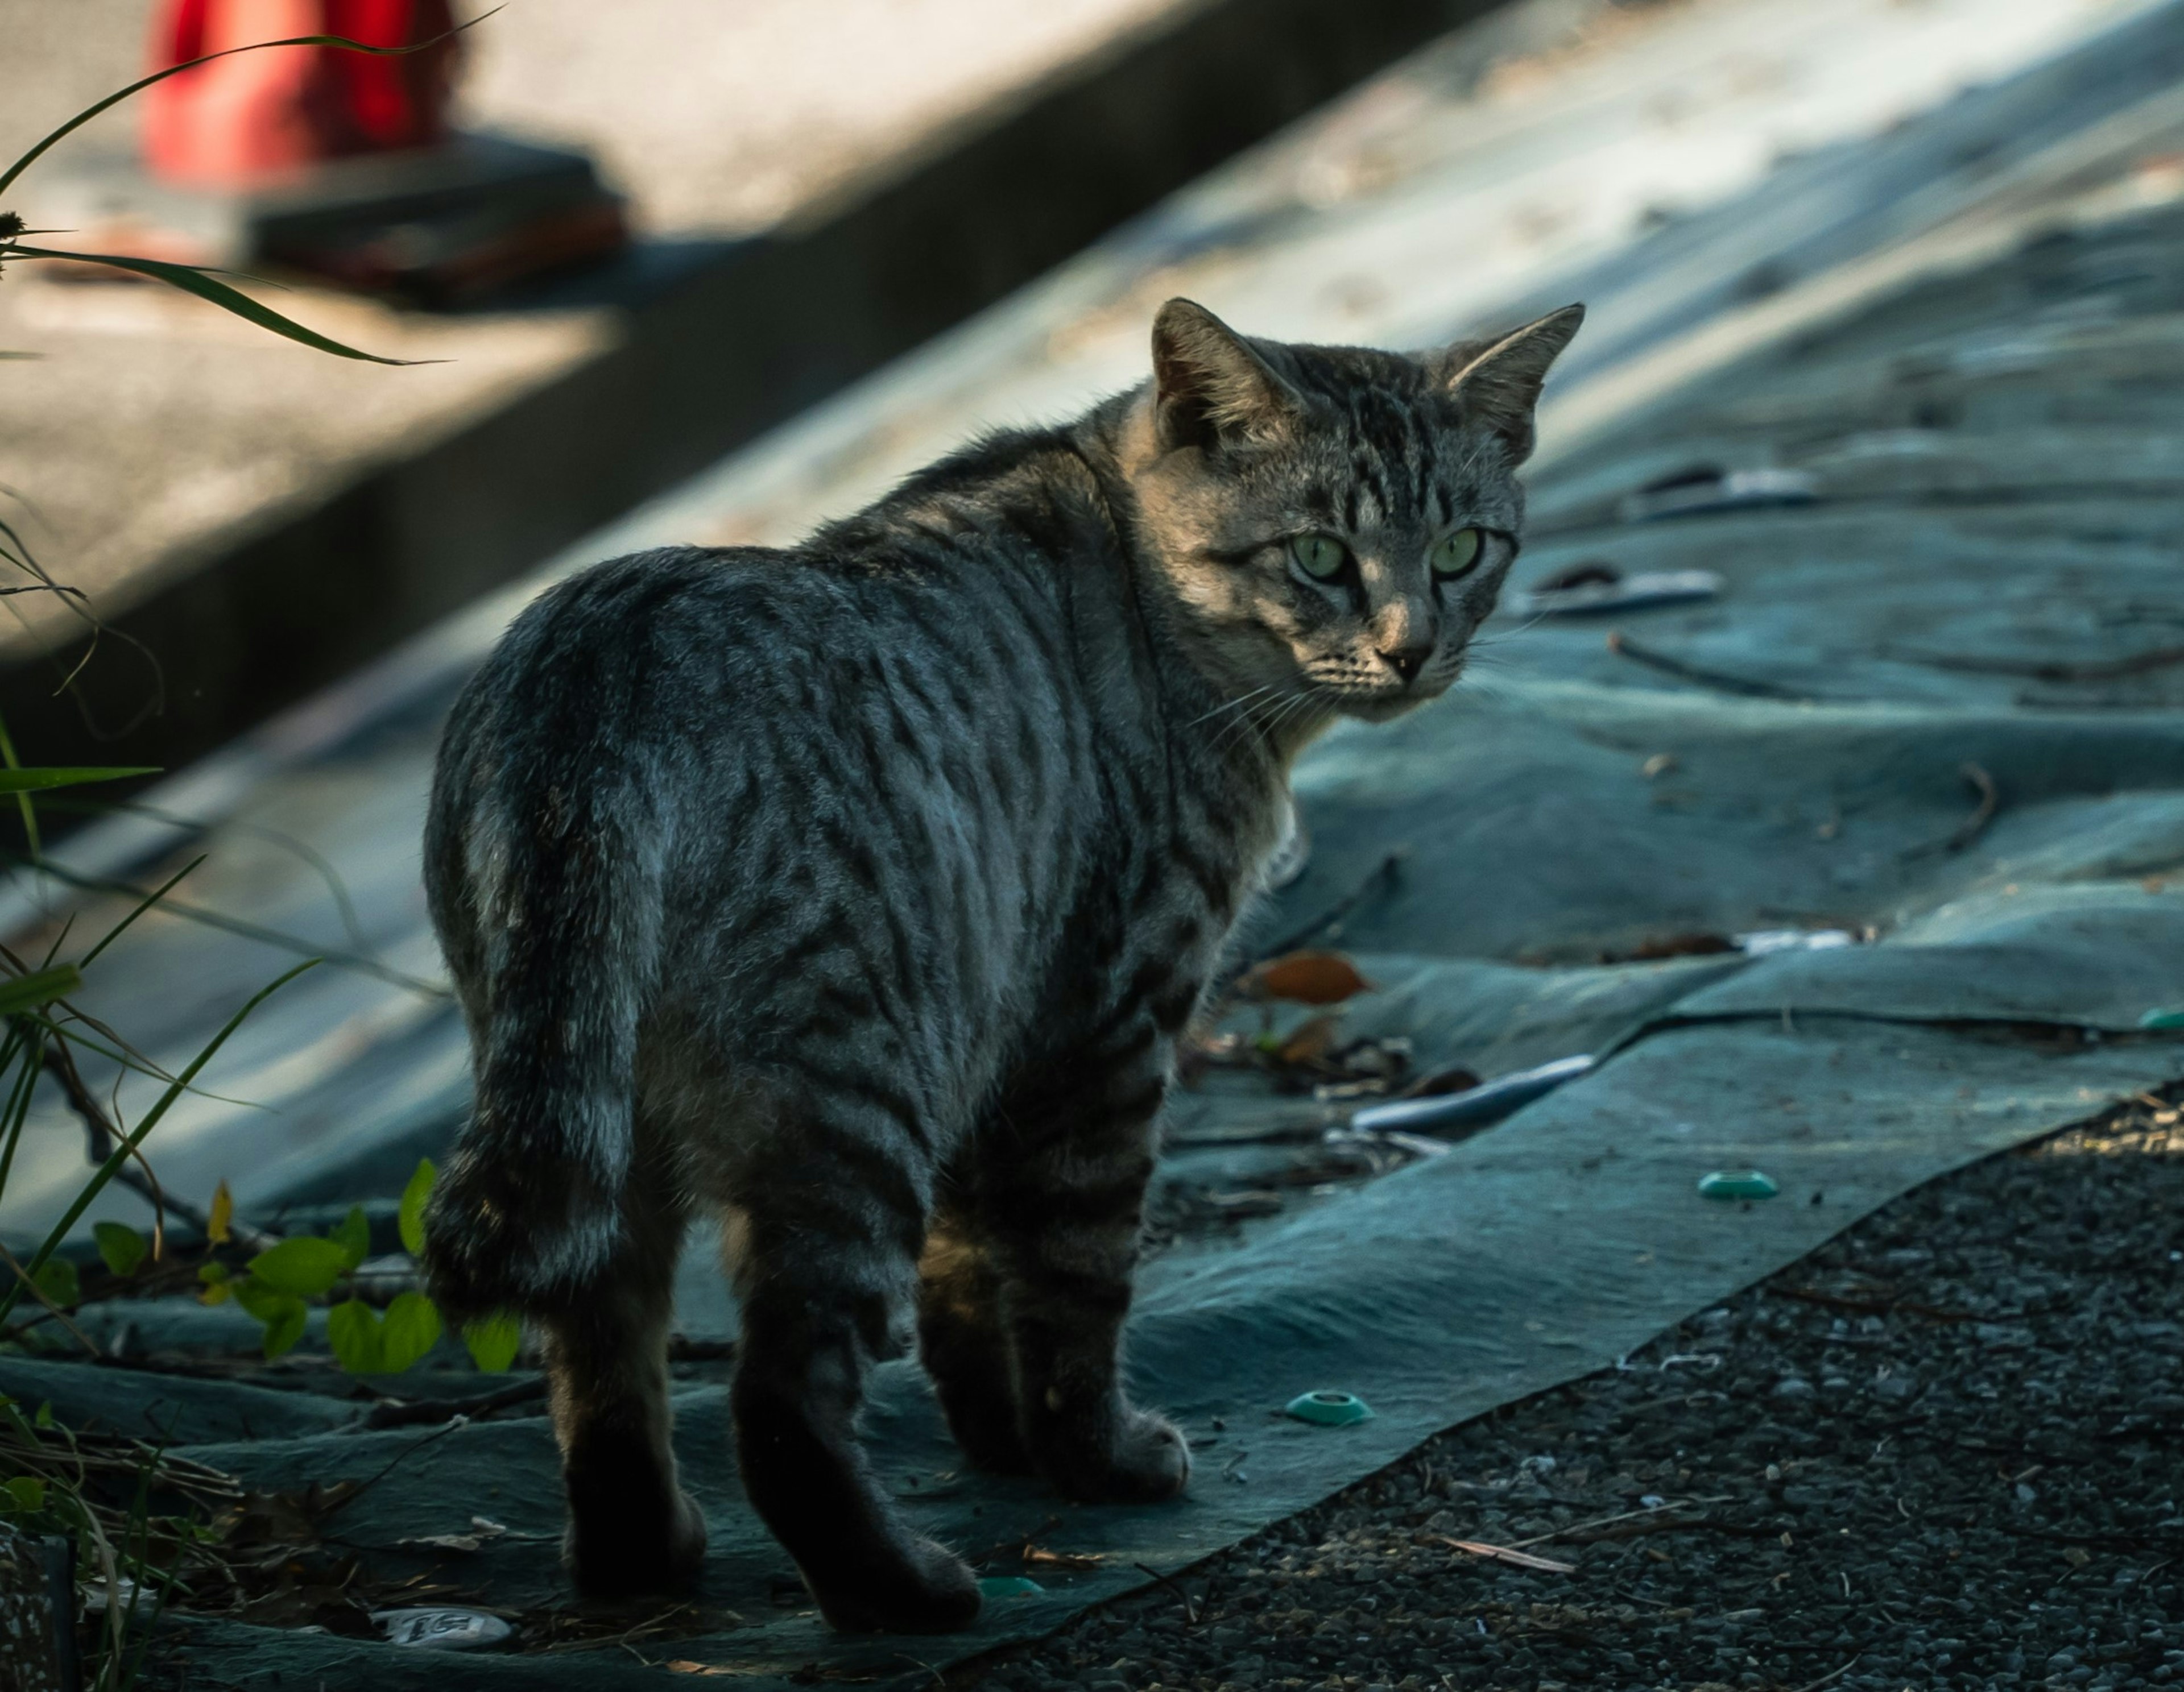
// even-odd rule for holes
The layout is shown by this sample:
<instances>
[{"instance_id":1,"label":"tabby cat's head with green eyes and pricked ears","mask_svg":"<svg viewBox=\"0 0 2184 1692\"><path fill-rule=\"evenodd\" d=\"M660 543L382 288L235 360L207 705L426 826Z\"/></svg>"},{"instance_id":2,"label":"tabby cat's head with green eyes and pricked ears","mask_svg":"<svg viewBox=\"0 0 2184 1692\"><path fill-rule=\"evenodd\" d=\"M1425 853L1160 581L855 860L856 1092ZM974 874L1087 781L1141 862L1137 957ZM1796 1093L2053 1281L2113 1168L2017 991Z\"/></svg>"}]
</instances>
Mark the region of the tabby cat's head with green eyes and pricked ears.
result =
<instances>
[{"instance_id":1,"label":"tabby cat's head with green eyes and pricked ears","mask_svg":"<svg viewBox=\"0 0 2184 1692\"><path fill-rule=\"evenodd\" d=\"M1406 356L1160 308L1120 461L1221 694L1308 729L1398 716L1457 679L1516 557L1540 382L1583 314Z\"/></svg>"}]
</instances>

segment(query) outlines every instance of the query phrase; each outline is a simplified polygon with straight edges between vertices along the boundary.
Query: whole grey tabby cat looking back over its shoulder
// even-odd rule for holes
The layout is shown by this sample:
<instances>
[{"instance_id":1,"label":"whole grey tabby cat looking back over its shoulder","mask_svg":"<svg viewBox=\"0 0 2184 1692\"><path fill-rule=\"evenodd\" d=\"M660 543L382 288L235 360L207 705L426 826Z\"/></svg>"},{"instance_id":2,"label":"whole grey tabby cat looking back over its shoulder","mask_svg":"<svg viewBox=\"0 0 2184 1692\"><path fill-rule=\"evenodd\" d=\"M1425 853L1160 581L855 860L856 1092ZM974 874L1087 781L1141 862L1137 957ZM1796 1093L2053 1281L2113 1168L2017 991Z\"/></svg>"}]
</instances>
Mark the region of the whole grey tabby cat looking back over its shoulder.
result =
<instances>
[{"instance_id":1,"label":"whole grey tabby cat looking back over its shoulder","mask_svg":"<svg viewBox=\"0 0 2184 1692\"><path fill-rule=\"evenodd\" d=\"M834 1627L978 1611L856 1439L913 1336L970 1461L1184 1489L1116 1378L1175 1039L1297 751L1463 668L1581 317L1400 356L1171 299L1153 380L1066 428L788 550L603 563L509 629L426 827L476 1059L426 1264L544 1345L581 1589L705 1548L666 1371L697 1214L743 1482Z\"/></svg>"}]
</instances>

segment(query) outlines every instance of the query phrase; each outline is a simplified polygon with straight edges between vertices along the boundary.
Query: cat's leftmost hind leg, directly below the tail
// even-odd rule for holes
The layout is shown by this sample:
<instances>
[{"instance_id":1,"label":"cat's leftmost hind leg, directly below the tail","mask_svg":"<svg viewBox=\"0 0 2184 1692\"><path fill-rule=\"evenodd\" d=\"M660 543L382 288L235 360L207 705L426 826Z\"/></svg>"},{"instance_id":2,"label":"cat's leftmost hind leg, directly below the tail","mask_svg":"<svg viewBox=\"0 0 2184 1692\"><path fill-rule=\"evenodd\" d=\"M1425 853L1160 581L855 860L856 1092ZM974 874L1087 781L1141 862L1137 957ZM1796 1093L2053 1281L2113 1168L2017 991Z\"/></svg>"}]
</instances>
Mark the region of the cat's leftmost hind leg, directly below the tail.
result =
<instances>
[{"instance_id":1,"label":"cat's leftmost hind leg, directly below the tail","mask_svg":"<svg viewBox=\"0 0 2184 1692\"><path fill-rule=\"evenodd\" d=\"M607 1271L535 1312L568 1493L563 1561L594 1598L675 1592L705 1554L705 1517L677 1485L668 1321L684 1218L640 1172Z\"/></svg>"}]
</instances>

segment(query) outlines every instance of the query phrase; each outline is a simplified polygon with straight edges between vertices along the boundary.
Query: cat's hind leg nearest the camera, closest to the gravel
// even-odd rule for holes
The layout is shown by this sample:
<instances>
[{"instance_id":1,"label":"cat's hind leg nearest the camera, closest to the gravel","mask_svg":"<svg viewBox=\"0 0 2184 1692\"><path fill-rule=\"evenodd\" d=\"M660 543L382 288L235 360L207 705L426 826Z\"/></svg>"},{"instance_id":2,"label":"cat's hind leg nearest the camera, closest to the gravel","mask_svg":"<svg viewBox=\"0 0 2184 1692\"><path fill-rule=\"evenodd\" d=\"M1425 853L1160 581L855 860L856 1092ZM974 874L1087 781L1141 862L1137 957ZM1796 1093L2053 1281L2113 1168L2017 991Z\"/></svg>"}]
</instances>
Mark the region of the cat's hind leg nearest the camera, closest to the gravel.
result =
<instances>
[{"instance_id":1,"label":"cat's hind leg nearest the camera, closest to the gravel","mask_svg":"<svg viewBox=\"0 0 2184 1692\"><path fill-rule=\"evenodd\" d=\"M743 1487L832 1627L952 1633L978 1581L902 1520L856 1439L871 1365L909 1349L930 1175L878 1105L799 1116L738 1179Z\"/></svg>"}]
</instances>

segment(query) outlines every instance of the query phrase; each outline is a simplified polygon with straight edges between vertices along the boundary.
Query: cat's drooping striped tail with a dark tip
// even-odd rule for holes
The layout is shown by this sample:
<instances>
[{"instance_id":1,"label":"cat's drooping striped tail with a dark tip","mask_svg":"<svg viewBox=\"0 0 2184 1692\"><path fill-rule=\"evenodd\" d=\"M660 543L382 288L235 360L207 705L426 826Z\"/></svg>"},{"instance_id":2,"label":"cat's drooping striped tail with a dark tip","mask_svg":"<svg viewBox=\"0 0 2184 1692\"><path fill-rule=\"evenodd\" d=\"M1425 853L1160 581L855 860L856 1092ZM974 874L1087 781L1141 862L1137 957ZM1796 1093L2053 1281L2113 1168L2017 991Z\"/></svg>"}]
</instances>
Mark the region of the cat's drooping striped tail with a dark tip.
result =
<instances>
[{"instance_id":1,"label":"cat's drooping striped tail with a dark tip","mask_svg":"<svg viewBox=\"0 0 2184 1692\"><path fill-rule=\"evenodd\" d=\"M470 1013L476 1105L426 1207L456 1319L550 1314L625 1244L638 1022L660 967L662 841L638 795L435 790L428 891Z\"/></svg>"}]
</instances>

